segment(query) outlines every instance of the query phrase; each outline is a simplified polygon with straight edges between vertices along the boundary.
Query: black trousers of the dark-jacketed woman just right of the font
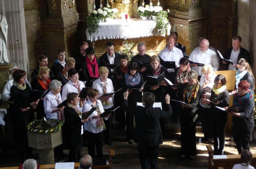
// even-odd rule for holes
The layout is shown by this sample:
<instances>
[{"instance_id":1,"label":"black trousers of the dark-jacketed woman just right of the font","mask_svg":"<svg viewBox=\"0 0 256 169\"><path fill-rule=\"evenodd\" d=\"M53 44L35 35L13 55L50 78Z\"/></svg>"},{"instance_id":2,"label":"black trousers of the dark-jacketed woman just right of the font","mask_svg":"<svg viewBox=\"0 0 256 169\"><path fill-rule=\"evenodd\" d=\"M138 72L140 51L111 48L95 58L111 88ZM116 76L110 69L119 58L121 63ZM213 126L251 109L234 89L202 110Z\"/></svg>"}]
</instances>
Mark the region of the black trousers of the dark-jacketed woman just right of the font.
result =
<instances>
[{"instance_id":1,"label":"black trousers of the dark-jacketed woman just right of the font","mask_svg":"<svg viewBox=\"0 0 256 169\"><path fill-rule=\"evenodd\" d=\"M82 135L80 136L80 143L76 145L70 145L70 153L68 154L68 161L70 162L79 162L82 157Z\"/></svg>"}]
</instances>

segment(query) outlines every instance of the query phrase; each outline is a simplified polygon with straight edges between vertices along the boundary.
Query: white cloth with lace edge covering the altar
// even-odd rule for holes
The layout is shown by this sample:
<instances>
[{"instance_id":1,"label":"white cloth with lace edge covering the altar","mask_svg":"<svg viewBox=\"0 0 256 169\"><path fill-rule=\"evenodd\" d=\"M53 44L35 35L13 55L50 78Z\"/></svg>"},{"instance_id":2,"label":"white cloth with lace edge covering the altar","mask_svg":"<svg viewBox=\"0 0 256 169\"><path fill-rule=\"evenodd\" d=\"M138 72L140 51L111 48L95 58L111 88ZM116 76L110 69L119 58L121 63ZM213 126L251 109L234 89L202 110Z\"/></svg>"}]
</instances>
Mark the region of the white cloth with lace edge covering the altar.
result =
<instances>
[{"instance_id":1,"label":"white cloth with lace edge covering the altar","mask_svg":"<svg viewBox=\"0 0 256 169\"><path fill-rule=\"evenodd\" d=\"M170 23L168 34L170 32ZM96 41L102 39L132 39L148 36L165 36L157 33L155 20L129 19L128 22L121 19L113 19L110 22L101 22L99 28L91 36L86 30L87 40Z\"/></svg>"}]
</instances>

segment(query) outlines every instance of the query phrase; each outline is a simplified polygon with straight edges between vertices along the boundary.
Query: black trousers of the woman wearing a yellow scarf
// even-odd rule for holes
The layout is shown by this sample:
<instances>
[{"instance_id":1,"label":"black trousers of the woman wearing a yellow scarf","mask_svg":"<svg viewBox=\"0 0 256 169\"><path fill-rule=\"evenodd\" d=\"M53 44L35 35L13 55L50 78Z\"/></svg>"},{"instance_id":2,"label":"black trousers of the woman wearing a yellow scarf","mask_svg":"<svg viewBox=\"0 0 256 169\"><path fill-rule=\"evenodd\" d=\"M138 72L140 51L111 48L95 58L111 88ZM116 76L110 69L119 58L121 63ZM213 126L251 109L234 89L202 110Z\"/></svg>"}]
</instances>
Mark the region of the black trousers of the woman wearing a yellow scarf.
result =
<instances>
[{"instance_id":1,"label":"black trousers of the woman wearing a yellow scarf","mask_svg":"<svg viewBox=\"0 0 256 169\"><path fill-rule=\"evenodd\" d=\"M225 145L225 128L227 124L227 113L212 109L213 111L213 147L214 151L222 151Z\"/></svg>"}]
</instances>

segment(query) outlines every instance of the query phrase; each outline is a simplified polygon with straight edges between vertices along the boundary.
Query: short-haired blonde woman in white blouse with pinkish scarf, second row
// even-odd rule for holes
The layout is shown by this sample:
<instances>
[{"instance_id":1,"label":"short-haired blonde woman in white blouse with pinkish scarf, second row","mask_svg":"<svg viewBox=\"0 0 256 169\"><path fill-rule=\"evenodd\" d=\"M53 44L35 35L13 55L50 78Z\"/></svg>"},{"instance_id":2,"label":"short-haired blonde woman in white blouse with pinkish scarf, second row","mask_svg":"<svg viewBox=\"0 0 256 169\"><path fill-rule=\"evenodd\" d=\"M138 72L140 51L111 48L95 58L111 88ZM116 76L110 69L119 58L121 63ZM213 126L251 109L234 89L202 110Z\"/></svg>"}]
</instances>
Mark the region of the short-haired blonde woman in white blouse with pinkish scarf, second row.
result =
<instances>
[{"instance_id":1,"label":"short-haired blonde woman in white blouse with pinkish scarf, second row","mask_svg":"<svg viewBox=\"0 0 256 169\"><path fill-rule=\"evenodd\" d=\"M108 68L100 67L99 75L100 78L95 80L92 84L92 88L97 89L99 91L99 100L101 101L104 110L112 110L113 109L113 96L103 96L104 93L113 93L113 83L111 79L108 79ZM111 121L112 117L105 121L106 130L104 133L105 143L111 145L110 133L111 133Z\"/></svg>"}]
</instances>

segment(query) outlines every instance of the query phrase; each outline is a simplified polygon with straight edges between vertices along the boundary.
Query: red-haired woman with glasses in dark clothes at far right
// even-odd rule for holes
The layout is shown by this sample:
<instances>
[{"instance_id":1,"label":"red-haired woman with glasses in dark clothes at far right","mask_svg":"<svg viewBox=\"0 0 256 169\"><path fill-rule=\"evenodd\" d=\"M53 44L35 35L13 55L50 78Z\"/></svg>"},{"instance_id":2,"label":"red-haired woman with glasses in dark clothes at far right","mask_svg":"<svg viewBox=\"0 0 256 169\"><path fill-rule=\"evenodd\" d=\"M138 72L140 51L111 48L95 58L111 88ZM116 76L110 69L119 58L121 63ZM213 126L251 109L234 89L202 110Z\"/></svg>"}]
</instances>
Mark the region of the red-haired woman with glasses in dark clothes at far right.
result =
<instances>
[{"instance_id":1,"label":"red-haired woman with glasses in dark clothes at far right","mask_svg":"<svg viewBox=\"0 0 256 169\"><path fill-rule=\"evenodd\" d=\"M242 150L250 150L249 141L251 141L254 126L254 95L246 80L239 82L237 92L238 95L234 98L233 105L238 106L239 110L229 113L233 115L234 141L238 154L241 154Z\"/></svg>"}]
</instances>

